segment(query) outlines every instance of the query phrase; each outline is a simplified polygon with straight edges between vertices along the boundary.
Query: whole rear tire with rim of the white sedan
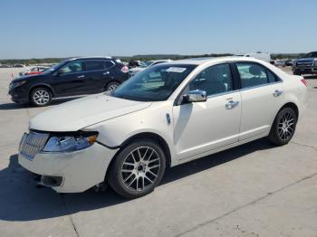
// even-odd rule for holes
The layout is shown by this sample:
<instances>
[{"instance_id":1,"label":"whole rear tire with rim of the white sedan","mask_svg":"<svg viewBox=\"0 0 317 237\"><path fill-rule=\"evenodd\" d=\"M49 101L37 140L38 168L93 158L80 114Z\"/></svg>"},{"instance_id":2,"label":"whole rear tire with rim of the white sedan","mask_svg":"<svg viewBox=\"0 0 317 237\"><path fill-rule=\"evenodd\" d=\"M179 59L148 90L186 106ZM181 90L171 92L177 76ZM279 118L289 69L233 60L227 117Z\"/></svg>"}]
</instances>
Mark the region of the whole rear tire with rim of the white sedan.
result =
<instances>
[{"instance_id":1,"label":"whole rear tire with rim of the white sedan","mask_svg":"<svg viewBox=\"0 0 317 237\"><path fill-rule=\"evenodd\" d=\"M294 109L281 109L274 119L268 139L276 146L283 146L292 139L297 124L297 115Z\"/></svg>"}]
</instances>

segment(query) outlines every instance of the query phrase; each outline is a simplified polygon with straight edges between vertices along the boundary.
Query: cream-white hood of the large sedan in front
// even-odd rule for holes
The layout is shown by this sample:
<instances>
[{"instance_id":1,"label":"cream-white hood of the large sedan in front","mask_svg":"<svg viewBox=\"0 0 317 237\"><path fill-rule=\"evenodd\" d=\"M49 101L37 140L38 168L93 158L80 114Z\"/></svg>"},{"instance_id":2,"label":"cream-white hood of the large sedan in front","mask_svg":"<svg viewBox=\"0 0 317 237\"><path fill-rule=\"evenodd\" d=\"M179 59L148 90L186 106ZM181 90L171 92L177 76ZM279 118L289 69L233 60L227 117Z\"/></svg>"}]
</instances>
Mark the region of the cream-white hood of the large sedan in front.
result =
<instances>
[{"instance_id":1,"label":"cream-white hood of the large sedan in front","mask_svg":"<svg viewBox=\"0 0 317 237\"><path fill-rule=\"evenodd\" d=\"M101 121L146 109L150 104L151 102L114 98L104 93L92 95L44 111L31 119L30 129L77 131Z\"/></svg>"}]
</instances>

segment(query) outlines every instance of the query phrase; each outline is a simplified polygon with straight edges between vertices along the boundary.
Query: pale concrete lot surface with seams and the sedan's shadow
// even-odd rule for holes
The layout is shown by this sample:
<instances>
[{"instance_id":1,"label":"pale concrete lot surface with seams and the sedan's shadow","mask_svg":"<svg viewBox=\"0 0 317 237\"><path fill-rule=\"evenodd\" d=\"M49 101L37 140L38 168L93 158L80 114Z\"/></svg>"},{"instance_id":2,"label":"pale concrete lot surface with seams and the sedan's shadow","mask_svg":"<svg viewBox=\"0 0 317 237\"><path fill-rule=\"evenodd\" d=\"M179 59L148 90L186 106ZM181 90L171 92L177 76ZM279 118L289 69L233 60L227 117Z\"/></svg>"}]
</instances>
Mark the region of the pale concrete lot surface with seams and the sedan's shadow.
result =
<instances>
[{"instance_id":1,"label":"pale concrete lot surface with seams and the sedan's shadow","mask_svg":"<svg viewBox=\"0 0 317 237\"><path fill-rule=\"evenodd\" d=\"M10 101L17 71L0 69L0 236L317 236L317 80L289 145L260 139L174 167L154 193L127 201L36 188L17 146L49 108Z\"/></svg>"}]
</instances>

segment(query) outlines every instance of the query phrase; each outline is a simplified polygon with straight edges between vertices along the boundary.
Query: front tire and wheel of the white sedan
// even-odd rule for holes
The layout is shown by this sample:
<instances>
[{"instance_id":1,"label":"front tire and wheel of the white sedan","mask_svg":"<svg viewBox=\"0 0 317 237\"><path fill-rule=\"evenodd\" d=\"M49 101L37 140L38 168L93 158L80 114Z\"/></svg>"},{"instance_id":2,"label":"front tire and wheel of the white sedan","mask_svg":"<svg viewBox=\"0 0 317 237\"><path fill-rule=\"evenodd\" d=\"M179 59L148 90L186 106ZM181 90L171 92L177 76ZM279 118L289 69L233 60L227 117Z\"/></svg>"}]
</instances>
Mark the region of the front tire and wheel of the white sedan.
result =
<instances>
[{"instance_id":1,"label":"front tire and wheel of the white sedan","mask_svg":"<svg viewBox=\"0 0 317 237\"><path fill-rule=\"evenodd\" d=\"M124 147L114 157L108 183L124 198L138 198L151 193L159 185L166 167L166 157L159 145L139 140Z\"/></svg>"}]
</instances>

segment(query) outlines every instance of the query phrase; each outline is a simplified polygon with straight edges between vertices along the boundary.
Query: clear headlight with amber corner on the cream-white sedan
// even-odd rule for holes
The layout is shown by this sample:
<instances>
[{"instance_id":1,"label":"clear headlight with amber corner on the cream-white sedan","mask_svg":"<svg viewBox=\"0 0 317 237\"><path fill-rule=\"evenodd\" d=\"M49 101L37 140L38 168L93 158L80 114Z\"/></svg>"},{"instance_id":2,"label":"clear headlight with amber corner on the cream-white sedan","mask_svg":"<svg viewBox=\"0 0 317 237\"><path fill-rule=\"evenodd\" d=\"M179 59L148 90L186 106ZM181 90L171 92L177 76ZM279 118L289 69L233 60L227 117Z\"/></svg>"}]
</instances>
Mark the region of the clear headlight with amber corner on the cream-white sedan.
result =
<instances>
[{"instance_id":1,"label":"clear headlight with amber corner on the cream-white sedan","mask_svg":"<svg viewBox=\"0 0 317 237\"><path fill-rule=\"evenodd\" d=\"M78 136L52 136L43 148L44 152L72 152L82 150L96 141L97 134Z\"/></svg>"}]
</instances>

